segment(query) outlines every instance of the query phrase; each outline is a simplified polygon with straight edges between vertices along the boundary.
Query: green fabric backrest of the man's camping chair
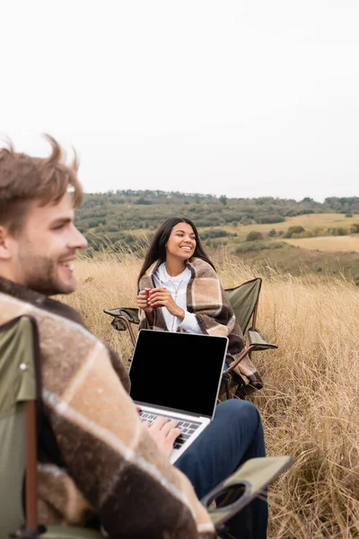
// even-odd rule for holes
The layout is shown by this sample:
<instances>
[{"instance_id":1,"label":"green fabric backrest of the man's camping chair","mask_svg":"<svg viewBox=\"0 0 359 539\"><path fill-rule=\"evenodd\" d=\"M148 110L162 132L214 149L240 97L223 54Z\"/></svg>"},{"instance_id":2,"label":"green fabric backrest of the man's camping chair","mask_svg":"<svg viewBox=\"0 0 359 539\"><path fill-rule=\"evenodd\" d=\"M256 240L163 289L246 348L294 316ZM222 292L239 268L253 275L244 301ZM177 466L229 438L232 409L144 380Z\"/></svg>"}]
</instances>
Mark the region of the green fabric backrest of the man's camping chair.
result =
<instances>
[{"instance_id":1,"label":"green fabric backrest of the man's camping chair","mask_svg":"<svg viewBox=\"0 0 359 539\"><path fill-rule=\"evenodd\" d=\"M36 466L36 430L26 432L25 426L27 423L25 416L29 413L34 415L35 411L36 350L37 330L31 317L21 316L0 326L0 537L2 538L15 533L24 524L22 487L25 467L29 459L32 459ZM33 477L27 476L26 490L35 490L36 484L33 480ZM36 508L36 496L35 499L33 497L29 499L29 504L27 501L27 527L32 525L36 529L36 519L29 523L29 518L31 519L34 514L33 504Z\"/></svg>"}]
</instances>

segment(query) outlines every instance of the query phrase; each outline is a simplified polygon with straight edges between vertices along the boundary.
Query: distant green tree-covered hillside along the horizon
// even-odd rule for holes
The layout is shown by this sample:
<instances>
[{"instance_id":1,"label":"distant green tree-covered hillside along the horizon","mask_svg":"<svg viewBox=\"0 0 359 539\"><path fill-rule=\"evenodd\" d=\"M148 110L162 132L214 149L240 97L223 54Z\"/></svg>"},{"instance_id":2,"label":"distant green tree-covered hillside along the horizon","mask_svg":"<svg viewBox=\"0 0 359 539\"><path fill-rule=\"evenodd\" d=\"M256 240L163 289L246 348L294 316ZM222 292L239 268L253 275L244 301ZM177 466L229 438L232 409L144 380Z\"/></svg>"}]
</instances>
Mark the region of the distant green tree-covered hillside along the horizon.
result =
<instances>
[{"instance_id":1,"label":"distant green tree-covered hillside along the horizon","mask_svg":"<svg viewBox=\"0 0 359 539\"><path fill-rule=\"evenodd\" d=\"M232 199L162 190L86 193L76 213L76 225L91 236L96 249L107 242L134 243L139 230L150 236L170 216L186 216L197 226L206 227L280 223L285 217L328 212L359 214L359 197L330 197L320 203L309 197L300 201L273 197Z\"/></svg>"}]
</instances>

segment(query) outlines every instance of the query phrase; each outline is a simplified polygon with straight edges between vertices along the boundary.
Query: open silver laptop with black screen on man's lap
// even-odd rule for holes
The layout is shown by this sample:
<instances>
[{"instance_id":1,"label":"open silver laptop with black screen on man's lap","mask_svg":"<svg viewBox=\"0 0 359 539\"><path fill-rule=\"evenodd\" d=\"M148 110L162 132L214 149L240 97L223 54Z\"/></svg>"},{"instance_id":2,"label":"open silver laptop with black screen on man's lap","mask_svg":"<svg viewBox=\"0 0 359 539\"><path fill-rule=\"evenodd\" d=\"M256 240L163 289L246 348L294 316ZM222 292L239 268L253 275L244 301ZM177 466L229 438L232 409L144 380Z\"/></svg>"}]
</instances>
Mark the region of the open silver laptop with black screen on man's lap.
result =
<instances>
[{"instance_id":1,"label":"open silver laptop with black screen on man's lap","mask_svg":"<svg viewBox=\"0 0 359 539\"><path fill-rule=\"evenodd\" d=\"M140 330L129 368L130 395L141 420L177 420L181 435L171 463L213 419L228 338L171 331Z\"/></svg>"}]
</instances>

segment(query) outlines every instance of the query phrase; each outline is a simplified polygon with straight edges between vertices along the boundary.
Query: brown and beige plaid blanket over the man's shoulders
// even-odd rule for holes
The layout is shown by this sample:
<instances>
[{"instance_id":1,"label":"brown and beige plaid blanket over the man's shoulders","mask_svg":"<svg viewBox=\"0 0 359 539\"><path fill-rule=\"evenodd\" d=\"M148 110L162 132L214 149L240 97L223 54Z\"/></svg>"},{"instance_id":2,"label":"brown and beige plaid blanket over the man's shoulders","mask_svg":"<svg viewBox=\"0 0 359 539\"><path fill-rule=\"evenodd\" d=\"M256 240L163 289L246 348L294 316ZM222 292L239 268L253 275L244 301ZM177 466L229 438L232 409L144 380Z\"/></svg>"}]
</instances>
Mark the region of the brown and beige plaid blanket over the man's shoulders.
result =
<instances>
[{"instance_id":1,"label":"brown and beige plaid blanket over the man's shoulders","mask_svg":"<svg viewBox=\"0 0 359 539\"><path fill-rule=\"evenodd\" d=\"M39 523L95 519L118 539L213 539L188 478L141 423L115 352L70 307L0 278L0 324L22 314L39 328Z\"/></svg>"}]
</instances>

